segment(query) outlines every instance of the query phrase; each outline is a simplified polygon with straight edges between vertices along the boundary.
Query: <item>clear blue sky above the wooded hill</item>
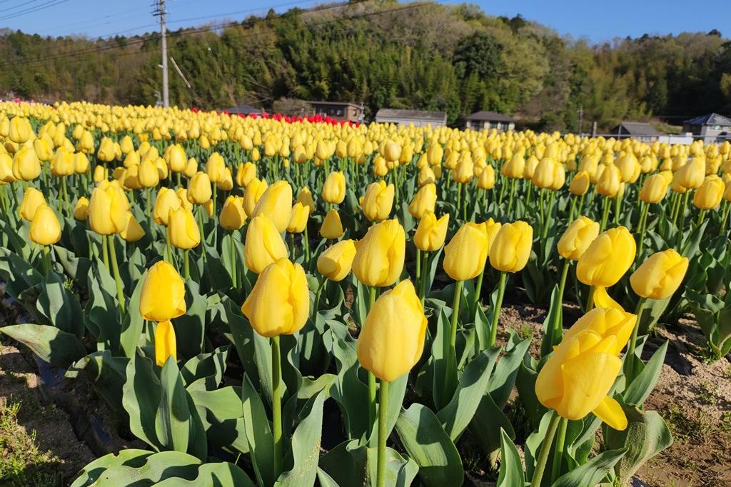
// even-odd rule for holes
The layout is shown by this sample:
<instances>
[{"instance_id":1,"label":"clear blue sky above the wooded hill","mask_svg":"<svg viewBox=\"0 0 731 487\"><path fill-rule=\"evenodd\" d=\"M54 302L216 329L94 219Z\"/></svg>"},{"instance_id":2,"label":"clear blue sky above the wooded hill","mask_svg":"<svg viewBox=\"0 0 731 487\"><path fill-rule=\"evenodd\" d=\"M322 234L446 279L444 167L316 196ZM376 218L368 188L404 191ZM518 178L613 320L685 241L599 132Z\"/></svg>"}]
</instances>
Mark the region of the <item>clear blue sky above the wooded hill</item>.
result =
<instances>
[{"instance_id":1,"label":"clear blue sky above the wooded hill","mask_svg":"<svg viewBox=\"0 0 731 487\"><path fill-rule=\"evenodd\" d=\"M140 34L156 29L154 0L0 0L0 27L42 35ZM311 0L168 0L172 29L205 22L240 20L251 14L309 7ZM461 3L445 0L442 3ZM477 0L491 15L523 15L560 34L602 42L642 34L678 34L719 29L731 36L731 1L711 1L694 9L688 0ZM725 20L725 21L724 21ZM725 31L724 31L724 28Z\"/></svg>"}]
</instances>

